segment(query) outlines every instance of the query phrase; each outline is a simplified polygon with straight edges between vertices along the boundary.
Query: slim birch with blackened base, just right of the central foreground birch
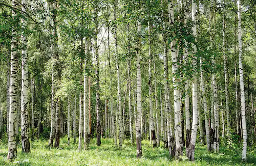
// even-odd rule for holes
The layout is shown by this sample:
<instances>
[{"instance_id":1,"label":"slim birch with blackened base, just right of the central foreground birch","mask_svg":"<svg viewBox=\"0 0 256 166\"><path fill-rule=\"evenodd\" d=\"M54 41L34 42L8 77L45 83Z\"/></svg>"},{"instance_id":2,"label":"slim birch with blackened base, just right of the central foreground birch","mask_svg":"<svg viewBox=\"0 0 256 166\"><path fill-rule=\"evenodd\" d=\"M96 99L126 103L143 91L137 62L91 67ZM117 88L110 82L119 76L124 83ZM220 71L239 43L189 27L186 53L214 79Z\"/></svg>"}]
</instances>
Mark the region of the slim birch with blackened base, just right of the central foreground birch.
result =
<instances>
[{"instance_id":1,"label":"slim birch with blackened base, just right of the central foreground birch","mask_svg":"<svg viewBox=\"0 0 256 166\"><path fill-rule=\"evenodd\" d=\"M156 133L155 133L155 122L153 117L153 103L152 103L152 72L151 72L151 64L152 64L152 53L151 53L151 24L150 21L148 23L148 89L149 89L149 99L150 99L150 131L151 131L151 139L153 143L153 148L157 147L156 142Z\"/></svg>"}]
</instances>

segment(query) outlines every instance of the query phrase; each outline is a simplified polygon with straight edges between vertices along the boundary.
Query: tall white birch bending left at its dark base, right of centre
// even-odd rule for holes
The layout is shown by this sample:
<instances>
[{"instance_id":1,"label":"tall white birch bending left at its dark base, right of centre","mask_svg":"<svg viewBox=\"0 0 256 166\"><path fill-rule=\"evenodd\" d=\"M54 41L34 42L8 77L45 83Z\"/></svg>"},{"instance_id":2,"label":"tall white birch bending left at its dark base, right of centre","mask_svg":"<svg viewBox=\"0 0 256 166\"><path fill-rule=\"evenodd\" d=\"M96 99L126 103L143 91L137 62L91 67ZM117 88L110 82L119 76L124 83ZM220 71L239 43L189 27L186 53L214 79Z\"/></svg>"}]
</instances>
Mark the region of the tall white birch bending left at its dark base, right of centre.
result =
<instances>
[{"instance_id":1,"label":"tall white birch bending left at its dark base, right of centre","mask_svg":"<svg viewBox=\"0 0 256 166\"><path fill-rule=\"evenodd\" d=\"M196 2L192 2L192 21L194 23L192 30L193 36L197 37L197 26L196 26ZM197 47L195 44L193 46L193 81L192 81L192 105L193 105L193 121L192 121L192 132L191 132L191 139L188 145L188 149L186 151L187 158L191 161L195 160L195 145L196 145L196 138L197 138L197 125L198 125L198 99L197 99L197 75L196 75L196 67L197 67L197 57L195 56L197 52Z\"/></svg>"}]
</instances>

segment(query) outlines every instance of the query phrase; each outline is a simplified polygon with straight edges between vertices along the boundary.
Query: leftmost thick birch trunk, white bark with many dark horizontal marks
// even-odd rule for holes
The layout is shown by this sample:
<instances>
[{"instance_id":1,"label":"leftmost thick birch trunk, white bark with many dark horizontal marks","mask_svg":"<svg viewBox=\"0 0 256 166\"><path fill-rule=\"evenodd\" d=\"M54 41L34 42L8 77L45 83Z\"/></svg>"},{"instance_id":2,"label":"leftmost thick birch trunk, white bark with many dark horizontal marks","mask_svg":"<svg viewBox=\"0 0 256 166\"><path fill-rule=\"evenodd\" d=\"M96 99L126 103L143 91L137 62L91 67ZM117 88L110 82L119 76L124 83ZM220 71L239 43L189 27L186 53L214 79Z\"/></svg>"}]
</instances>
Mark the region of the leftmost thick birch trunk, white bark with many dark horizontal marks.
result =
<instances>
[{"instance_id":1,"label":"leftmost thick birch trunk, white bark with many dark horizontal marks","mask_svg":"<svg viewBox=\"0 0 256 166\"><path fill-rule=\"evenodd\" d=\"M18 6L17 1L12 1L12 7ZM17 13L12 10L12 18L15 19ZM13 160L17 156L16 147L16 114L17 114L17 65L18 65L18 54L17 54L17 32L16 26L12 27L12 39L11 39L11 73L10 73L10 112L9 112L9 135L8 135L8 155L7 159Z\"/></svg>"}]
</instances>

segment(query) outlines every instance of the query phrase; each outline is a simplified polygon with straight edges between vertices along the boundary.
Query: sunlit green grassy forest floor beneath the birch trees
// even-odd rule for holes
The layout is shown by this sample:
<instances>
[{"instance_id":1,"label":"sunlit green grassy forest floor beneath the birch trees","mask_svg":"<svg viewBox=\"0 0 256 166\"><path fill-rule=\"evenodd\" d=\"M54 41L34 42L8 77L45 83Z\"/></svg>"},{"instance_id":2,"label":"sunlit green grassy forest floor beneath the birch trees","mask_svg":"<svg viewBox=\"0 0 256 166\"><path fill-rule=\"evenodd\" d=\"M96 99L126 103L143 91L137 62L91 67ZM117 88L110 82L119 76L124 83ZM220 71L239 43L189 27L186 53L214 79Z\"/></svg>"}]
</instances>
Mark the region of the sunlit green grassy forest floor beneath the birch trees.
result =
<instances>
[{"instance_id":1,"label":"sunlit green grassy forest floor beneath the birch trees","mask_svg":"<svg viewBox=\"0 0 256 166\"><path fill-rule=\"evenodd\" d=\"M220 148L220 153L208 153L206 146L196 145L195 161L182 161L168 158L163 146L153 149L149 141L142 141L143 157L136 158L136 145L125 140L123 150L113 146L113 139L91 141L90 150L78 152L78 144L68 146L67 137L60 140L59 149L48 149L48 140L35 140L31 143L31 154L22 154L18 145L18 154L14 162L6 160L8 145L0 141L0 165L256 165L256 149L248 149L247 162L241 161L240 148ZM73 142L73 139L71 139Z\"/></svg>"}]
</instances>

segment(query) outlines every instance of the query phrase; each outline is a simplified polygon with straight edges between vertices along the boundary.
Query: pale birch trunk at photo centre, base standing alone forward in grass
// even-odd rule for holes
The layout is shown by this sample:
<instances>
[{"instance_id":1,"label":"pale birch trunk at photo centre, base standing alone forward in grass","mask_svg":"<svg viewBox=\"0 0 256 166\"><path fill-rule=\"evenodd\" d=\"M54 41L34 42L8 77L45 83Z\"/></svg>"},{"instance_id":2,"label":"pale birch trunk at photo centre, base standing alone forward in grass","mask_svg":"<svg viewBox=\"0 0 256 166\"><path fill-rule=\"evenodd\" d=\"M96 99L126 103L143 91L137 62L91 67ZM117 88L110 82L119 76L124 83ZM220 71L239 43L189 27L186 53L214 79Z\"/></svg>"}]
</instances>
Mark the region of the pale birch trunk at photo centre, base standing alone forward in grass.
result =
<instances>
[{"instance_id":1,"label":"pale birch trunk at photo centre, base standing alone forward in grass","mask_svg":"<svg viewBox=\"0 0 256 166\"><path fill-rule=\"evenodd\" d=\"M137 146L137 158L142 156L141 147L141 114L142 114L142 102L141 102L141 71L140 71L140 59L141 59L141 22L137 22L137 41L136 41L136 66L137 66L137 119L136 119L136 146Z\"/></svg>"}]
</instances>

